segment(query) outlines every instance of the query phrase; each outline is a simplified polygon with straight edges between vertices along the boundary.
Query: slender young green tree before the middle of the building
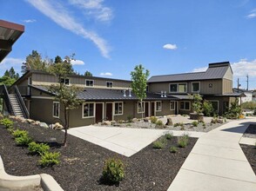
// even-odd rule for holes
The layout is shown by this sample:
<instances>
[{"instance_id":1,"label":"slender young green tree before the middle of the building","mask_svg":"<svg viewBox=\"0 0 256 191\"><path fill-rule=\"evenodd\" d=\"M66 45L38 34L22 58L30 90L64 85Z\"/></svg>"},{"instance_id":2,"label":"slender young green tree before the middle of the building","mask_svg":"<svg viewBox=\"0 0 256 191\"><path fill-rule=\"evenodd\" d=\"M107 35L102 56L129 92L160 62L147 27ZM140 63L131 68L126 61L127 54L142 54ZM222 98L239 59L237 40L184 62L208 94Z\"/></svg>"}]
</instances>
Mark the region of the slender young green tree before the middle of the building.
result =
<instances>
[{"instance_id":1,"label":"slender young green tree before the middle of the building","mask_svg":"<svg viewBox=\"0 0 256 191\"><path fill-rule=\"evenodd\" d=\"M144 69L144 67L139 64L134 68L134 71L131 71L131 89L134 94L138 97L139 102L142 107L141 118L143 118L143 100L146 97L146 82L147 78L150 75L148 69Z\"/></svg>"}]
</instances>

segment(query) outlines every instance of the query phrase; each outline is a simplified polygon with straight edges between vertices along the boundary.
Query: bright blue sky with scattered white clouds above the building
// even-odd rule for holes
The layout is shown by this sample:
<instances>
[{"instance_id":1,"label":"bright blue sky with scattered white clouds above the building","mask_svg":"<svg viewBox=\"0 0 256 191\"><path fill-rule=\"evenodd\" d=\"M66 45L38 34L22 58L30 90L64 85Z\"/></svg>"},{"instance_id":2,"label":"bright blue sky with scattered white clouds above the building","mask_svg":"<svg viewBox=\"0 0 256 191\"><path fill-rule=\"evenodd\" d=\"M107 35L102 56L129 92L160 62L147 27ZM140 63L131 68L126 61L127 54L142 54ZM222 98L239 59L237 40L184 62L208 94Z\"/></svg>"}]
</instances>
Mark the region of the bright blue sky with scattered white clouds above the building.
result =
<instances>
[{"instance_id":1,"label":"bright blue sky with scattered white clouds above the building","mask_svg":"<svg viewBox=\"0 0 256 191\"><path fill-rule=\"evenodd\" d=\"M3 1L3 0L2 0ZM256 89L255 0L9 0L0 19L25 25L0 63L0 75L33 49L43 57L75 53L81 74L130 79L138 64L151 76L201 71L229 61L241 87Z\"/></svg>"}]
</instances>

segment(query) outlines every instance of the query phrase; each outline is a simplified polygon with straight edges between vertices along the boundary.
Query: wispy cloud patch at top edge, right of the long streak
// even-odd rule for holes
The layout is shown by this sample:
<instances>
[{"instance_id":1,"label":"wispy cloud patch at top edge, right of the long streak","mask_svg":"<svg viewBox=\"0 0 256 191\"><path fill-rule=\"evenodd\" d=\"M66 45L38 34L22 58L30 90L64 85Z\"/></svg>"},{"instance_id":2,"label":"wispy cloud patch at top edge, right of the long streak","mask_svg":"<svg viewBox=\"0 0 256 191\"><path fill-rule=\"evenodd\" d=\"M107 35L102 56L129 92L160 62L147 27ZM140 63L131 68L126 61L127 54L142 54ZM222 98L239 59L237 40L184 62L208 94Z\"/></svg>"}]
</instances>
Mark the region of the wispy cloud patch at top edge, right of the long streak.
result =
<instances>
[{"instance_id":1,"label":"wispy cloud patch at top edge, right of the long streak","mask_svg":"<svg viewBox=\"0 0 256 191\"><path fill-rule=\"evenodd\" d=\"M86 16L93 16L98 21L110 21L113 17L111 8L104 6L104 0L69 0L69 2L84 10Z\"/></svg>"}]
</instances>

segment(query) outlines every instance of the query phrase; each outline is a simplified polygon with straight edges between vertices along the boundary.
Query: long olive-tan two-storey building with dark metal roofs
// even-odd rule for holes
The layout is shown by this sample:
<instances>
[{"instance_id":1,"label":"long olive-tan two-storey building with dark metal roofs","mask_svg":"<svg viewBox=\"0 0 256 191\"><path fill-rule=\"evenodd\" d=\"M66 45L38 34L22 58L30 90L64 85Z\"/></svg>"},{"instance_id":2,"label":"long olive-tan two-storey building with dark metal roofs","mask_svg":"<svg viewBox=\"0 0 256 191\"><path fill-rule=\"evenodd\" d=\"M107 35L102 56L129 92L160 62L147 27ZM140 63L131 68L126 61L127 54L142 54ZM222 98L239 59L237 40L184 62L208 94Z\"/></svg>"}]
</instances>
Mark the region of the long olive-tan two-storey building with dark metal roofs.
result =
<instances>
[{"instance_id":1,"label":"long olive-tan two-storey building with dark metal roofs","mask_svg":"<svg viewBox=\"0 0 256 191\"><path fill-rule=\"evenodd\" d=\"M210 63L205 72L152 76L142 104L131 91L131 81L71 75L62 82L83 89L77 95L83 102L71 110L70 127L104 120L140 118L142 114L144 117L189 114L192 112L192 94L196 93L212 102L221 115L234 97L241 95L232 93L229 63ZM64 122L63 106L48 91L48 87L55 83L57 76L34 70L26 72L15 82L13 87L19 89L31 119L47 123Z\"/></svg>"}]
</instances>

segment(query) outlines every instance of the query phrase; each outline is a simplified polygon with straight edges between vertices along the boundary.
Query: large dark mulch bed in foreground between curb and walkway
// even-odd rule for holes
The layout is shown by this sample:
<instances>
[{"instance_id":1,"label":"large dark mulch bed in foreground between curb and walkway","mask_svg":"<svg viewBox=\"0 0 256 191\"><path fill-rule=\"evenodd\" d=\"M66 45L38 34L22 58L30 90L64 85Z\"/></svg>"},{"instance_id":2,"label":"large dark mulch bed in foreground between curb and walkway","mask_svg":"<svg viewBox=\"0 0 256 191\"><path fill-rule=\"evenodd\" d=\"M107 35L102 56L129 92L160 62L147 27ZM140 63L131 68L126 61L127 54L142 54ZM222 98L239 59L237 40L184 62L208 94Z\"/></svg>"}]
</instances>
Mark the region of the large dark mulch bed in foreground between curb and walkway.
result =
<instances>
[{"instance_id":1,"label":"large dark mulch bed in foreground between curb and walkway","mask_svg":"<svg viewBox=\"0 0 256 191\"><path fill-rule=\"evenodd\" d=\"M51 137L57 142L64 140L64 133L40 128L27 123L16 122L15 127L26 129L37 142L48 142ZM39 156L28 155L28 149L17 147L6 128L0 126L0 155L5 170L10 175L52 175L64 190L166 190L179 172L187 155L197 139L190 138L187 148L179 148L179 153L169 152L177 138L168 141L168 147L157 150L152 145L130 158L118 155L72 135L68 136L68 147L55 145L51 151L61 153L61 162L53 168L40 168ZM125 162L125 180L119 186L100 183L104 160L117 156Z\"/></svg>"}]
</instances>

